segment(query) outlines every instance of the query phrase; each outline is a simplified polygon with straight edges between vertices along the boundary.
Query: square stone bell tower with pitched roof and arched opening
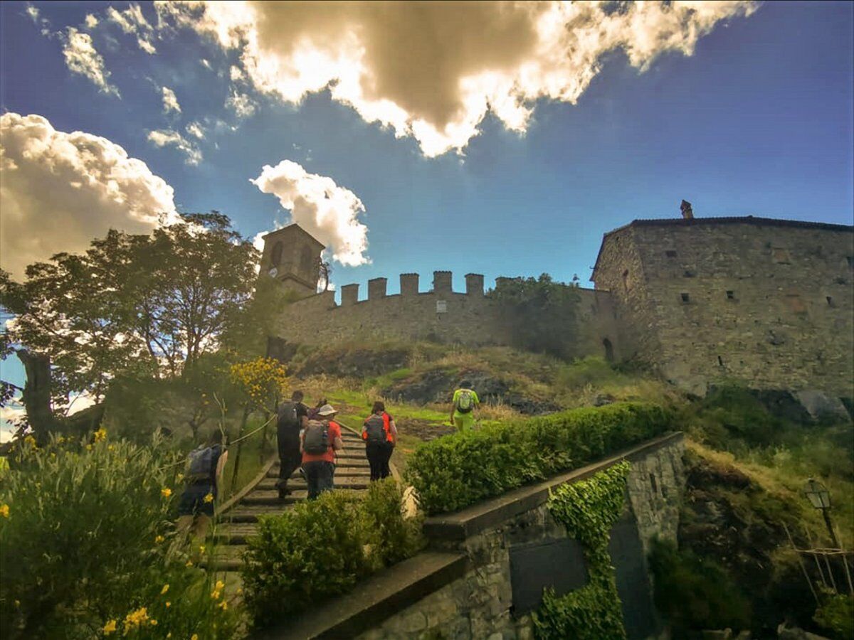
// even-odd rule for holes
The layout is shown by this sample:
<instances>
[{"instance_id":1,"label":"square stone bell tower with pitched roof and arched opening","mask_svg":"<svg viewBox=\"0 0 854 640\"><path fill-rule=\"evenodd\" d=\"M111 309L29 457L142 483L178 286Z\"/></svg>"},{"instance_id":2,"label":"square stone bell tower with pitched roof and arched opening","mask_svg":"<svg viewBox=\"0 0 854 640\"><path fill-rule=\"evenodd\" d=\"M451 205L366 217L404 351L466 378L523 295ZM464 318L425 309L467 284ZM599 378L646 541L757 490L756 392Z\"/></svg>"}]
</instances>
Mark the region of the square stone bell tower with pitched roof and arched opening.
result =
<instances>
[{"instance_id":1,"label":"square stone bell tower with pitched roof and arched opening","mask_svg":"<svg viewBox=\"0 0 854 640\"><path fill-rule=\"evenodd\" d=\"M263 239L261 275L272 276L300 294L316 294L323 244L299 224L271 231Z\"/></svg>"}]
</instances>

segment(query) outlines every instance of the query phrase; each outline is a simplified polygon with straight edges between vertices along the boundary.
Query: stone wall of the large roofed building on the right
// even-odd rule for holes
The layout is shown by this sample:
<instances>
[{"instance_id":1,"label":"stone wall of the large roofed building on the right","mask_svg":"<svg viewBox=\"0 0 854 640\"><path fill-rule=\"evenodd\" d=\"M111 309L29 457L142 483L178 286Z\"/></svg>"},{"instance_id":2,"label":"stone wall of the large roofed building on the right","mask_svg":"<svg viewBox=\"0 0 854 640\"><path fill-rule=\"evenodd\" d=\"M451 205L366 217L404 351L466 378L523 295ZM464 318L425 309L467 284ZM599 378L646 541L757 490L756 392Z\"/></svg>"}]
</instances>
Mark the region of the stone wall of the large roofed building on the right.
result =
<instances>
[{"instance_id":1,"label":"stone wall of the large roofed building on the right","mask_svg":"<svg viewBox=\"0 0 854 640\"><path fill-rule=\"evenodd\" d=\"M681 224L684 223L684 224ZM636 221L605 237L594 272L624 351L681 387L854 387L854 233L763 218Z\"/></svg>"}]
</instances>

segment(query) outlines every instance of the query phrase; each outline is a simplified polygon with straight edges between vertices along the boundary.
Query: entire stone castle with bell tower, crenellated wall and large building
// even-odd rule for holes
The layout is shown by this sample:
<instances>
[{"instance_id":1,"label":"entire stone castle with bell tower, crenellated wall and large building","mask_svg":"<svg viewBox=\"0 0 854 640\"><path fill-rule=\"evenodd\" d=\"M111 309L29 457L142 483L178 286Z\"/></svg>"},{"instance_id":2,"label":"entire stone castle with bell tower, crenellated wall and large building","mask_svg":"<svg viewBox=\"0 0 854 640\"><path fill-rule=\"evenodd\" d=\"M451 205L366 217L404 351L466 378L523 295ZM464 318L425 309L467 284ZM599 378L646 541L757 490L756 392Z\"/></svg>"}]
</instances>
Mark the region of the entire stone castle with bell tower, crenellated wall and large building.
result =
<instances>
[{"instance_id":1,"label":"entire stone castle with bell tower, crenellated wall and large building","mask_svg":"<svg viewBox=\"0 0 854 640\"><path fill-rule=\"evenodd\" d=\"M854 396L854 227L772 218L635 220L605 234L565 336L577 357L640 360L693 393L739 381L753 388ZM430 291L401 274L316 293L323 245L291 224L264 237L261 272L304 297L279 319L291 344L341 340L512 343L483 276L454 292L450 271ZM496 278L500 286L502 278Z\"/></svg>"}]
</instances>

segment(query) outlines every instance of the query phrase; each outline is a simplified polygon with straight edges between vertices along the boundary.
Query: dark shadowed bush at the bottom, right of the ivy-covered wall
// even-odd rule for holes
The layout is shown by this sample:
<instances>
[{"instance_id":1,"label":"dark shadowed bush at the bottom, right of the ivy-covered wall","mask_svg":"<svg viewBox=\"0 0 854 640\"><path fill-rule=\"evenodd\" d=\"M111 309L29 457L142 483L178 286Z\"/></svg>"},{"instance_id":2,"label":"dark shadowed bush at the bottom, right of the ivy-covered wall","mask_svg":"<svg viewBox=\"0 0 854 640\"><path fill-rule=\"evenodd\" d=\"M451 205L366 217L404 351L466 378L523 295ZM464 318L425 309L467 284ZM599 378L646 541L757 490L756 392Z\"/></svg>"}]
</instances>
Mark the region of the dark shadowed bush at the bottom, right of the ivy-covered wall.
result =
<instances>
[{"instance_id":1,"label":"dark shadowed bush at the bottom, right of the ivy-covered wall","mask_svg":"<svg viewBox=\"0 0 854 640\"><path fill-rule=\"evenodd\" d=\"M674 637L702 629L750 628L750 602L716 563L657 540L650 568L656 608L672 625Z\"/></svg>"}]
</instances>

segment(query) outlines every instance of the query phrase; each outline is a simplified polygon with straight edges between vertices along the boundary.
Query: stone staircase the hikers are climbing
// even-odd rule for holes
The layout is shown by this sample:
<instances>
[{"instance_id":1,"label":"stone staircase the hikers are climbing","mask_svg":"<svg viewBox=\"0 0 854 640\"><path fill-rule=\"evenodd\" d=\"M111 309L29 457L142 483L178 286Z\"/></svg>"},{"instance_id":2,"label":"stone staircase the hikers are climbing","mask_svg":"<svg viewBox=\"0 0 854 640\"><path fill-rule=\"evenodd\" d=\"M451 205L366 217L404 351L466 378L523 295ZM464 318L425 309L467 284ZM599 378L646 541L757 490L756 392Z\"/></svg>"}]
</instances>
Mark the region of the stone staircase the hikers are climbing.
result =
<instances>
[{"instance_id":1,"label":"stone staircase the hikers are climbing","mask_svg":"<svg viewBox=\"0 0 854 640\"><path fill-rule=\"evenodd\" d=\"M342 428L343 452L338 453L335 469L335 488L364 491L371 480L371 468L365 457L365 445L360 436ZM237 572L243 564L241 556L246 549L246 540L258 532L259 515L279 515L293 508L295 503L307 497L306 480L299 472L288 480L290 496L278 499L278 460L266 473L266 477L243 496L231 509L219 515L219 524L213 532L217 551L208 569L216 572ZM228 581L226 581L228 582Z\"/></svg>"}]
</instances>

